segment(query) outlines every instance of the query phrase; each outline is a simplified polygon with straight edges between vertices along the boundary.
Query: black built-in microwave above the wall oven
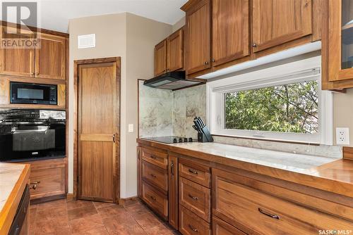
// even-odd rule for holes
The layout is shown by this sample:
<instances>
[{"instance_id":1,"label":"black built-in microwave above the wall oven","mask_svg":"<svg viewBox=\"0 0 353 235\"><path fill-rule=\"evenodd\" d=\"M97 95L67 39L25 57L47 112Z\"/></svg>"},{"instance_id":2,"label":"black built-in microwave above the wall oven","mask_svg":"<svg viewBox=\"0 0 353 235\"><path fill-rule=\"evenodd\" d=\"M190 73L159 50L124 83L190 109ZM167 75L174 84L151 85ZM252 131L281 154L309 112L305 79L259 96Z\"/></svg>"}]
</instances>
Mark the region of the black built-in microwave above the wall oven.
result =
<instances>
[{"instance_id":1,"label":"black built-in microwave above the wall oven","mask_svg":"<svg viewBox=\"0 0 353 235\"><path fill-rule=\"evenodd\" d=\"M10 103L58 104L56 84L10 82Z\"/></svg>"}]
</instances>

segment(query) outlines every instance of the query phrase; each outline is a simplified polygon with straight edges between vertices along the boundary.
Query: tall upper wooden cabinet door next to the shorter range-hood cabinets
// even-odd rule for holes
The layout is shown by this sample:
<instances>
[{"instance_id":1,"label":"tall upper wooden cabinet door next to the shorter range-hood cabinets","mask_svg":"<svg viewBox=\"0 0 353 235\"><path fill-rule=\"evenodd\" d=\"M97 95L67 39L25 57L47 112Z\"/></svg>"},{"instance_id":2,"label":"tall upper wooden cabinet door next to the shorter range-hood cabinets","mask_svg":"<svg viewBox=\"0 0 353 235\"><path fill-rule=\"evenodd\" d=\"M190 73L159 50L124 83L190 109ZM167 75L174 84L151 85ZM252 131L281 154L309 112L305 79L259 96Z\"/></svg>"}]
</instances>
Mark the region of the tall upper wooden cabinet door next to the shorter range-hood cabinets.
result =
<instances>
[{"instance_id":1,"label":"tall upper wooden cabinet door next to the shorter range-hood cabinets","mask_svg":"<svg viewBox=\"0 0 353 235\"><path fill-rule=\"evenodd\" d=\"M186 12L187 74L205 70L211 66L210 4L210 1L200 1L199 4Z\"/></svg>"}]
</instances>

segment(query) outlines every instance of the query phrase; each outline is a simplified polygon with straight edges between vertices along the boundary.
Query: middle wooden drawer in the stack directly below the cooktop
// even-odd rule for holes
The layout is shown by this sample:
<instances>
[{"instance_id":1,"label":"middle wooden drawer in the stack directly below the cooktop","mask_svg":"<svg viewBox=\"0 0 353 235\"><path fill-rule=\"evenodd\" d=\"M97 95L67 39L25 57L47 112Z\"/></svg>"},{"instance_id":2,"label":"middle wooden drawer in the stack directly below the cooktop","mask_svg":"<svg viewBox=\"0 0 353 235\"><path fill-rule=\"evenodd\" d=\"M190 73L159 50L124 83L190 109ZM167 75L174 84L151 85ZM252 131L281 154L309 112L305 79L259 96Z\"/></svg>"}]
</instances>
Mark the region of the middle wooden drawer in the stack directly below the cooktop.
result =
<instances>
[{"instance_id":1,"label":"middle wooden drawer in the stack directly below the cooktop","mask_svg":"<svg viewBox=\"0 0 353 235\"><path fill-rule=\"evenodd\" d=\"M167 192L168 190L168 172L160 167L156 167L150 163L142 161L142 177L160 189Z\"/></svg>"}]
</instances>

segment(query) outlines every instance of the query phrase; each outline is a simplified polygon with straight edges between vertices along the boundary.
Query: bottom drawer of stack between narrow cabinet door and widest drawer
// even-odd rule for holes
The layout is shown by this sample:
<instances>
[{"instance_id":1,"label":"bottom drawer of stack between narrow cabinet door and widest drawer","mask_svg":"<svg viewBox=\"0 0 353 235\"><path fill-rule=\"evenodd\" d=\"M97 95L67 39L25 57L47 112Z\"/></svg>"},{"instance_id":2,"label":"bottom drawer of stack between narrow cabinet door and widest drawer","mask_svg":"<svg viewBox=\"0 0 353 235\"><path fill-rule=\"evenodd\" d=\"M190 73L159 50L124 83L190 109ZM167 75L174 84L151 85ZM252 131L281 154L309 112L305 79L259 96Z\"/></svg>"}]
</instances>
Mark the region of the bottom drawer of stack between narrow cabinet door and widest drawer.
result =
<instances>
[{"instance_id":1,"label":"bottom drawer of stack between narrow cabinet door and widest drawer","mask_svg":"<svg viewBox=\"0 0 353 235\"><path fill-rule=\"evenodd\" d=\"M180 205L179 231L184 235L211 234L210 224Z\"/></svg>"}]
</instances>

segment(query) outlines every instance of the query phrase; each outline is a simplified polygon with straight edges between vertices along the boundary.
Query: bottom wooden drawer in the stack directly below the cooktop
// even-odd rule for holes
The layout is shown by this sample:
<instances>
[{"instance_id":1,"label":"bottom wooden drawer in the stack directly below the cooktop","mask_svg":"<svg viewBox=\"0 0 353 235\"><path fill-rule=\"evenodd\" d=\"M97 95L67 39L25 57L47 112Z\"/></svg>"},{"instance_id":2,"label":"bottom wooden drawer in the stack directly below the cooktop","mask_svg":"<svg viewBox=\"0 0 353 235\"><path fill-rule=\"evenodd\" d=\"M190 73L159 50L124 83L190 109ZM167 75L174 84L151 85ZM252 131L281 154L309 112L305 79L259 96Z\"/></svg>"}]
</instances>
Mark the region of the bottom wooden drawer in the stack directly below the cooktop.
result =
<instances>
[{"instance_id":1,"label":"bottom wooden drawer in the stack directly below the cooktop","mask_svg":"<svg viewBox=\"0 0 353 235\"><path fill-rule=\"evenodd\" d=\"M142 199L165 220L168 218L168 198L145 181L142 182Z\"/></svg>"}]
</instances>

